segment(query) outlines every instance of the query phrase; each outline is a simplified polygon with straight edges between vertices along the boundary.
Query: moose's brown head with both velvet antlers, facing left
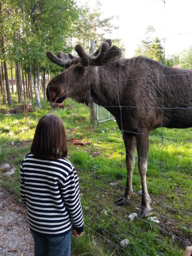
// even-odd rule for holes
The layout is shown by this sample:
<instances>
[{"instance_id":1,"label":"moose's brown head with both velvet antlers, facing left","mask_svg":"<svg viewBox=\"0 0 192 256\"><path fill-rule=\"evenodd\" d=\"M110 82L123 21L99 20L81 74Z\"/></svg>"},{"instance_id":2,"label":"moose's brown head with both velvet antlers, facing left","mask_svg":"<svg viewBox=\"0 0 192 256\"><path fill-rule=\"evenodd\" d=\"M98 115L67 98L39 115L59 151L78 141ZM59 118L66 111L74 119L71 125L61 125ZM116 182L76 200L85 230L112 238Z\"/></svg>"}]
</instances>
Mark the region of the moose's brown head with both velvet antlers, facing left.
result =
<instances>
[{"instance_id":1,"label":"moose's brown head with both velvet antlers, facing left","mask_svg":"<svg viewBox=\"0 0 192 256\"><path fill-rule=\"evenodd\" d=\"M65 69L65 72L55 76L47 86L47 100L50 103L61 103L66 98L72 98L88 105L90 102L89 85L98 80L97 67L122 56L118 47L111 46L110 39L102 43L93 54L87 55L80 44L76 45L75 50L79 56L64 52L58 52L57 55L50 51L46 52L47 57L53 63Z\"/></svg>"}]
</instances>

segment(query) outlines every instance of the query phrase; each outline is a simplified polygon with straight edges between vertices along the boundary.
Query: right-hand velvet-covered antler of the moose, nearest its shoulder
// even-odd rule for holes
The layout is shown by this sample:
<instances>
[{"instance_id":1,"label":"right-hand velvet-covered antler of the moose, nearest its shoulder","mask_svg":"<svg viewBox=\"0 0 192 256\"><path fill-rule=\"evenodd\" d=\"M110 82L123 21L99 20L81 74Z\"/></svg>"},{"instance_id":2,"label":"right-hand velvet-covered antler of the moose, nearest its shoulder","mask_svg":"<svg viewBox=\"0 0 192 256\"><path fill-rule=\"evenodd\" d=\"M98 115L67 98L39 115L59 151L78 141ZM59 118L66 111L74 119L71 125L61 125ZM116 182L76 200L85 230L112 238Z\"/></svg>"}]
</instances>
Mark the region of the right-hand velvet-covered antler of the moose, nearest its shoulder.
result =
<instances>
[{"instance_id":1,"label":"right-hand velvet-covered antler of the moose, nearest its shoulder","mask_svg":"<svg viewBox=\"0 0 192 256\"><path fill-rule=\"evenodd\" d=\"M122 57L122 51L116 46L110 47L111 41L109 43L107 41L102 43L99 49L92 56L86 54L81 44L76 44L75 50L84 64L102 66Z\"/></svg>"}]
</instances>

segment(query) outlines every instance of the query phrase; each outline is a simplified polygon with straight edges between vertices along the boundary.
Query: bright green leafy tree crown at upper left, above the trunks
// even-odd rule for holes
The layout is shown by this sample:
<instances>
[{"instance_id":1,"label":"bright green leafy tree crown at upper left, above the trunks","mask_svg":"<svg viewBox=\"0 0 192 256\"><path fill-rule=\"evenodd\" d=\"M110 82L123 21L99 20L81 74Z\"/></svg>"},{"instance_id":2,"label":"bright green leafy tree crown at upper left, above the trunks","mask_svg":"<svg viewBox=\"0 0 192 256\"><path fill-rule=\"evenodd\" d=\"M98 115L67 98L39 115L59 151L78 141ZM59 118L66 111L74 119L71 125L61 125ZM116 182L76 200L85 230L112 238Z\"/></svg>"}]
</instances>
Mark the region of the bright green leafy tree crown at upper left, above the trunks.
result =
<instances>
[{"instance_id":1,"label":"bright green leafy tree crown at upper left, above the trunks","mask_svg":"<svg viewBox=\"0 0 192 256\"><path fill-rule=\"evenodd\" d=\"M73 0L53 0L49 4L46 0L18 3L7 0L2 18L9 61L22 63L26 72L30 66L49 67L45 51L69 52L67 37L78 17L79 10Z\"/></svg>"}]
</instances>

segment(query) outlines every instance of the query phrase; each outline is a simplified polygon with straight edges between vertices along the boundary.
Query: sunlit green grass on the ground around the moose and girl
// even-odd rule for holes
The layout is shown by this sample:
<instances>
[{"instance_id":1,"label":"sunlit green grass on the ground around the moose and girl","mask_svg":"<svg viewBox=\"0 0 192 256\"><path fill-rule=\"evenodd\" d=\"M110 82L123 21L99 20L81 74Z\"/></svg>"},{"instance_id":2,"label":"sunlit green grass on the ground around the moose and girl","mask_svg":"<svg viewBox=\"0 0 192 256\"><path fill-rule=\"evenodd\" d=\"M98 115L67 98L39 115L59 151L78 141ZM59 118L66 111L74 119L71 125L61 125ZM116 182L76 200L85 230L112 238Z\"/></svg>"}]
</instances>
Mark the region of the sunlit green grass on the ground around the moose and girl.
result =
<instances>
[{"instance_id":1,"label":"sunlit green grass on the ground around the moose and girl","mask_svg":"<svg viewBox=\"0 0 192 256\"><path fill-rule=\"evenodd\" d=\"M160 224L148 218L137 218L131 222L129 213L138 213L141 203L137 193L141 190L137 155L133 175L134 200L125 207L116 207L114 201L123 195L126 186L125 147L121 131L113 120L102 122L93 129L90 109L70 99L67 102L73 104L73 110L67 108L52 112L63 120L67 138L90 142L86 146L68 143L68 157L79 175L85 221L85 236L72 241L73 254L182 255L185 241L192 237L192 143L189 142L192 129L158 128L151 131L147 183L153 216L157 216ZM43 108L37 113L33 105L34 112L28 114L28 122L24 114L6 116L0 113L0 164L9 163L17 168L11 178L1 175L2 183L18 199L20 162L30 151L38 120L50 112L47 101L41 100L41 104ZM8 106L0 108L7 109ZM2 174L4 171L1 169ZM117 181L118 186L110 185ZM176 236L174 241L170 234ZM121 248L120 241L125 238L130 243Z\"/></svg>"}]
</instances>

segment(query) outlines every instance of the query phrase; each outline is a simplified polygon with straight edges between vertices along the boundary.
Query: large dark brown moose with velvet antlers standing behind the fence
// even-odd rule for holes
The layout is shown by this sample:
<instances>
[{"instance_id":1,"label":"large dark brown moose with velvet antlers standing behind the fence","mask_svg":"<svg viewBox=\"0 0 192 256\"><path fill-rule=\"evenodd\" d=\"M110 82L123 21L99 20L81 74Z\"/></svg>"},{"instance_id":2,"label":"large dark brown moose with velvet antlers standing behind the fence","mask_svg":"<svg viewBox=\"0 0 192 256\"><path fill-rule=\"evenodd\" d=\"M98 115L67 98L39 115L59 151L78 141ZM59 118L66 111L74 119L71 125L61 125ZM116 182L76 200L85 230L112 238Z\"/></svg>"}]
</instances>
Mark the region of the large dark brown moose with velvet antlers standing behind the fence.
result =
<instances>
[{"instance_id":1,"label":"large dark brown moose with velvet antlers standing behind the fence","mask_svg":"<svg viewBox=\"0 0 192 256\"><path fill-rule=\"evenodd\" d=\"M47 57L65 71L47 85L47 100L61 103L67 97L83 102L90 95L116 119L126 151L127 184L117 205L130 204L135 153L142 184L139 216L151 208L146 183L149 132L157 127L192 127L192 70L173 69L143 56L122 58L121 50L106 40L92 55L80 44L79 56L47 51ZM90 93L90 94L89 94Z\"/></svg>"}]
</instances>

